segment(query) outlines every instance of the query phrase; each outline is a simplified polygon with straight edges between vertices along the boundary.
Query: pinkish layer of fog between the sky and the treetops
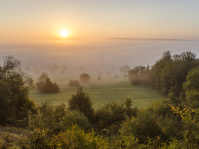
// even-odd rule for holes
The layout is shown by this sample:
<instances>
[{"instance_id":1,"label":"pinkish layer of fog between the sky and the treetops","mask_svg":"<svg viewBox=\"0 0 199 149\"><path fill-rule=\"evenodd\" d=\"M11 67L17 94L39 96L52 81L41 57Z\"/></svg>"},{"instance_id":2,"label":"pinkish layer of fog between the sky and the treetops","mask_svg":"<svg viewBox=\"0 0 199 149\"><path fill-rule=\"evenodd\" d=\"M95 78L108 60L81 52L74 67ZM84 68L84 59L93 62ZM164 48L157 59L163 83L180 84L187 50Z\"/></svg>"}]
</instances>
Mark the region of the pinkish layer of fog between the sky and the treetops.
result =
<instances>
[{"instance_id":1,"label":"pinkish layer of fog between the sky and the treetops","mask_svg":"<svg viewBox=\"0 0 199 149\"><path fill-rule=\"evenodd\" d=\"M175 40L69 40L35 44L0 44L2 58L12 55L21 60L22 68L38 78L50 76L78 79L82 72L97 76L120 76L119 68L151 66L164 51L179 54L191 51L199 56L198 41Z\"/></svg>"}]
</instances>

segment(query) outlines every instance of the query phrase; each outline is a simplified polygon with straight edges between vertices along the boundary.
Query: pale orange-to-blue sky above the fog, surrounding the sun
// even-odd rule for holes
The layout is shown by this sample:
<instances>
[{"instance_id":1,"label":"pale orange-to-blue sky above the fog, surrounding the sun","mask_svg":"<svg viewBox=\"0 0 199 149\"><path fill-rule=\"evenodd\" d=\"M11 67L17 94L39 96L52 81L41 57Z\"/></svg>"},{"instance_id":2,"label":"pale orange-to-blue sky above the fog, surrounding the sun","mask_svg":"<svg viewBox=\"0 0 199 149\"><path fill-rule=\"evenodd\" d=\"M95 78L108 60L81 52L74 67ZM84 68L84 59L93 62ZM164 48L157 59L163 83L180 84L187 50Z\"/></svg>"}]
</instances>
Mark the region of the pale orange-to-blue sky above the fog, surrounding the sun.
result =
<instances>
[{"instance_id":1,"label":"pale orange-to-blue sky above the fog, surrounding the sun","mask_svg":"<svg viewBox=\"0 0 199 149\"><path fill-rule=\"evenodd\" d=\"M0 41L199 39L199 0L0 0Z\"/></svg>"}]
</instances>

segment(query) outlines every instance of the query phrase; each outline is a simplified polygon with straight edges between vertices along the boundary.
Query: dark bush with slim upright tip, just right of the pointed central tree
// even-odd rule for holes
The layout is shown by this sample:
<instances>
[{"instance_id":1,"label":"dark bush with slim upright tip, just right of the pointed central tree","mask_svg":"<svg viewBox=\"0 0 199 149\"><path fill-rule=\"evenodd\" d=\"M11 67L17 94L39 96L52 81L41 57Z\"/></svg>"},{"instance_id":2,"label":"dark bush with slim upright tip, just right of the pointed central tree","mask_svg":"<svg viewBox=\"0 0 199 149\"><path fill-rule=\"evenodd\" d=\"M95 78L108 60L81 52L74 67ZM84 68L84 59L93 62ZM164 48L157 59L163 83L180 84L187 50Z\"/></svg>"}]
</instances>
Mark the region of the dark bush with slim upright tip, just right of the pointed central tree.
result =
<instances>
[{"instance_id":1,"label":"dark bush with slim upright tip, just right of the pointed central tree","mask_svg":"<svg viewBox=\"0 0 199 149\"><path fill-rule=\"evenodd\" d=\"M120 124L132 115L137 115L137 109L131 108L132 100L127 98L124 104L116 104L114 102L105 105L95 112L95 125L97 129L108 135L118 133ZM105 130L105 131L104 131ZM107 131L106 131L107 130Z\"/></svg>"}]
</instances>

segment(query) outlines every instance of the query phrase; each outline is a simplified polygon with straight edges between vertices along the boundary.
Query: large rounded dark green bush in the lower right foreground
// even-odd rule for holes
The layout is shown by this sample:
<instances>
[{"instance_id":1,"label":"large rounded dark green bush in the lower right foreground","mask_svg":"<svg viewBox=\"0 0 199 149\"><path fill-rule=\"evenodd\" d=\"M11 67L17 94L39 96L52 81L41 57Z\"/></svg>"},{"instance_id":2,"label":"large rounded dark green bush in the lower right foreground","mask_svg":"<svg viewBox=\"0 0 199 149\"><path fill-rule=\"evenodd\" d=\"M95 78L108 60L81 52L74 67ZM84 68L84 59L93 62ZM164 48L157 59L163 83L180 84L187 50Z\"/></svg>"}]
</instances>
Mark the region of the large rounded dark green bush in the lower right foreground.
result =
<instances>
[{"instance_id":1,"label":"large rounded dark green bush in the lower right foreground","mask_svg":"<svg viewBox=\"0 0 199 149\"><path fill-rule=\"evenodd\" d=\"M181 119L171 111L170 106L156 102L140 111L137 117L126 119L120 133L125 136L133 134L141 143L146 144L157 137L160 141L168 141L174 137L180 139L181 127Z\"/></svg>"}]
</instances>

